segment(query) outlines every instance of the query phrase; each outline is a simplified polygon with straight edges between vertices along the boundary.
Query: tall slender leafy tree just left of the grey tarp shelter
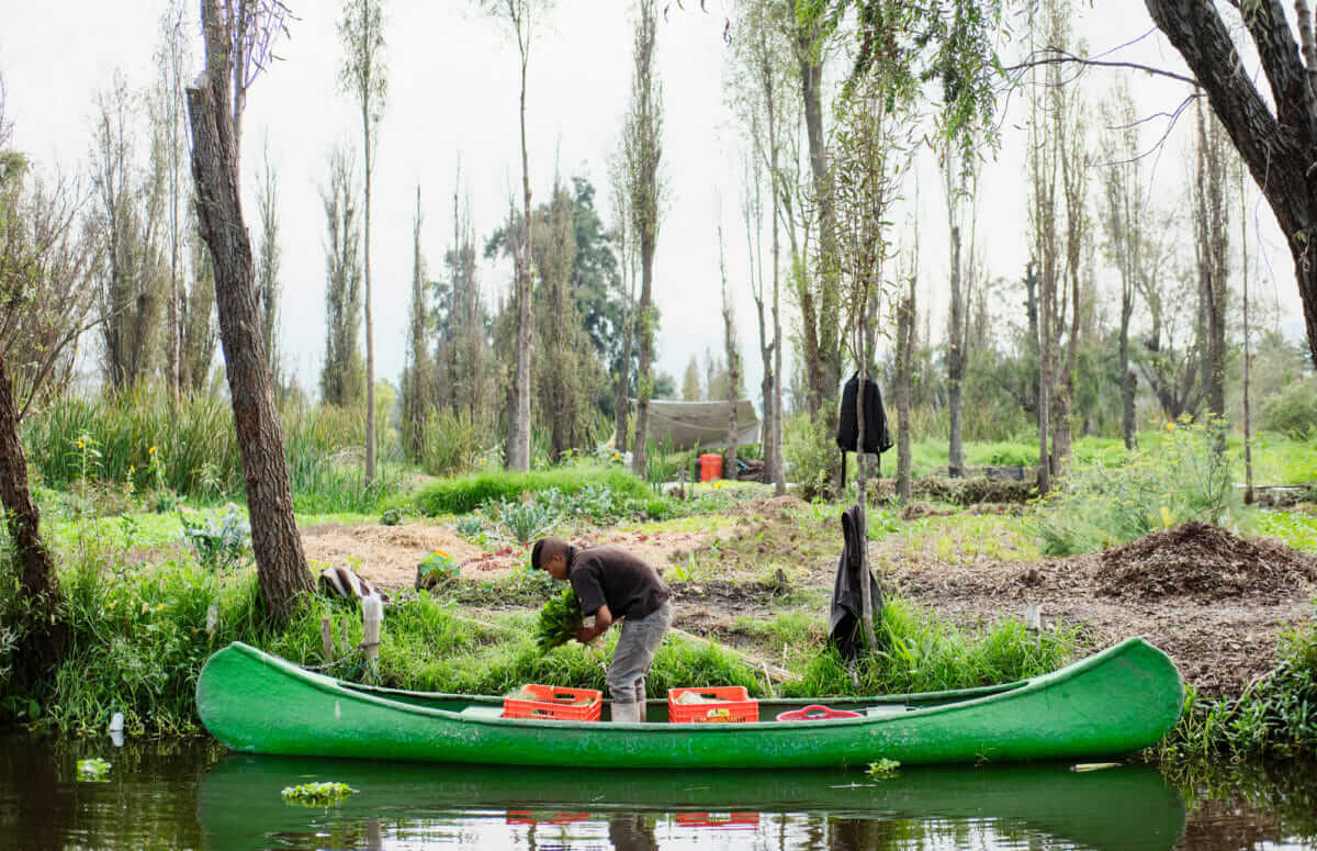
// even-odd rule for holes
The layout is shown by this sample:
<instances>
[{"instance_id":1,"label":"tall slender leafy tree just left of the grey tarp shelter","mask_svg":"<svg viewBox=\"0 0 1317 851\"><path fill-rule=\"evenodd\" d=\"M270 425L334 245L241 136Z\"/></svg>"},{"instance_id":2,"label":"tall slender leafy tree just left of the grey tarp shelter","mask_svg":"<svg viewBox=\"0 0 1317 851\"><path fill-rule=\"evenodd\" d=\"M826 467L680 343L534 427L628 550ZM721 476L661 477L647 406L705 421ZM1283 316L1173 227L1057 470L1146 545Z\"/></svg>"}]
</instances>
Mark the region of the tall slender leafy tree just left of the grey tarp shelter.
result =
<instances>
[{"instance_id":1,"label":"tall slender leafy tree just left of the grey tarp shelter","mask_svg":"<svg viewBox=\"0 0 1317 851\"><path fill-rule=\"evenodd\" d=\"M636 340L640 364L636 374L636 443L631 469L644 476L648 468L649 398L653 395L653 339L658 311L653 304L655 249L658 244L658 165L662 158L662 88L655 78L655 38L658 16L655 0L639 0L636 11L631 107L623 128L631 229L640 254L640 303L636 306Z\"/></svg>"}]
</instances>

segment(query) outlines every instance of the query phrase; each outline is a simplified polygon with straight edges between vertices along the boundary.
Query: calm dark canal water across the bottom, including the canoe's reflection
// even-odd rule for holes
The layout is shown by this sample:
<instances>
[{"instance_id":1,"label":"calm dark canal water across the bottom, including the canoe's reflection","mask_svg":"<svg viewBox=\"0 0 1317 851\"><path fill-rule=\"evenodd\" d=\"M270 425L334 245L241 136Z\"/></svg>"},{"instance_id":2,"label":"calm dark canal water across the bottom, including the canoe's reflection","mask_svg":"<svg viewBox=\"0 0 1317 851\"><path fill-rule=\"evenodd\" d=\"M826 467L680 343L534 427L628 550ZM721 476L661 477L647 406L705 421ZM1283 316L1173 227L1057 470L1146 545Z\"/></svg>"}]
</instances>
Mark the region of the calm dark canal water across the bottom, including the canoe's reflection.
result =
<instances>
[{"instance_id":1,"label":"calm dark canal water across the bottom, including the canoe's reflection","mask_svg":"<svg viewBox=\"0 0 1317 851\"><path fill-rule=\"evenodd\" d=\"M76 779L79 757L112 763ZM309 780L358 789L284 804ZM228 755L0 738L0 848L1317 848L1295 768L1180 788L1151 768L635 772Z\"/></svg>"}]
</instances>

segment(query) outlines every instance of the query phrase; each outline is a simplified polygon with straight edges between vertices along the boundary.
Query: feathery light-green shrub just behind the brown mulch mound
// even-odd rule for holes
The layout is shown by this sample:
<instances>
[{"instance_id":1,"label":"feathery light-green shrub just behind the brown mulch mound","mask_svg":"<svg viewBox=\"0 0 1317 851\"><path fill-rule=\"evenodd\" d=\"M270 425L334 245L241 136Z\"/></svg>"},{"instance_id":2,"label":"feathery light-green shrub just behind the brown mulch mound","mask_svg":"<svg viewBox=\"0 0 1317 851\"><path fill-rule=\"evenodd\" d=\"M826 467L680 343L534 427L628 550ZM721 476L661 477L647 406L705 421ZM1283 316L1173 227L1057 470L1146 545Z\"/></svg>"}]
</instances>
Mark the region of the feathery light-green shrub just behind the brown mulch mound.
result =
<instances>
[{"instance_id":1,"label":"feathery light-green shrub just behind the brown mulch mound","mask_svg":"<svg viewBox=\"0 0 1317 851\"><path fill-rule=\"evenodd\" d=\"M1185 520L1221 526L1242 512L1221 425L1168 424L1156 440L1108 468L1076 466L1038 515L1043 552L1068 556L1129 543Z\"/></svg>"}]
</instances>

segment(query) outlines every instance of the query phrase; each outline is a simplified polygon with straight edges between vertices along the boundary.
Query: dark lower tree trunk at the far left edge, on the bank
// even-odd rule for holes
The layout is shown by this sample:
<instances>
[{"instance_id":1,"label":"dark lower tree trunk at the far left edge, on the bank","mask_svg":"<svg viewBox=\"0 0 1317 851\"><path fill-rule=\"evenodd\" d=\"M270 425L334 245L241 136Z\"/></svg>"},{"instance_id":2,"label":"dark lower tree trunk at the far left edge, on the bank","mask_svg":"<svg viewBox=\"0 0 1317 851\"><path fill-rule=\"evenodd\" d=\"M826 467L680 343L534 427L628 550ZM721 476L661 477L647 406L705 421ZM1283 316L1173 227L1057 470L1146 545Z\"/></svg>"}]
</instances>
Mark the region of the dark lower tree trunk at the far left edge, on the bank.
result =
<instances>
[{"instance_id":1,"label":"dark lower tree trunk at the far left edge, on the bank","mask_svg":"<svg viewBox=\"0 0 1317 851\"><path fill-rule=\"evenodd\" d=\"M63 602L59 577L41 540L41 510L28 487L28 460L18 441L18 414L0 352L0 507L18 556L18 594L26 622L21 626L17 659L21 678L53 668L66 647L66 627L58 615Z\"/></svg>"}]
</instances>

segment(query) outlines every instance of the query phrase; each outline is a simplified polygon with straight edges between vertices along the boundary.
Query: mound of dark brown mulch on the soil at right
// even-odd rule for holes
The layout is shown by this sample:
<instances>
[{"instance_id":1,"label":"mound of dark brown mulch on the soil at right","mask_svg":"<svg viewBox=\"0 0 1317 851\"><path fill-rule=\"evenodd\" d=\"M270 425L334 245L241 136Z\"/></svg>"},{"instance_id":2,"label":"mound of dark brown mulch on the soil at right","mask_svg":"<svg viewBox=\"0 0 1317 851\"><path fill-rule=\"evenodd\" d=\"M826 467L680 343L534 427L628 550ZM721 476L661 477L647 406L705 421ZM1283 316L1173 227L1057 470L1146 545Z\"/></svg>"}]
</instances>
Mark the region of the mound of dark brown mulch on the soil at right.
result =
<instances>
[{"instance_id":1,"label":"mound of dark brown mulch on the soil at right","mask_svg":"<svg viewBox=\"0 0 1317 851\"><path fill-rule=\"evenodd\" d=\"M1276 598L1317 582L1317 559L1191 520L1108 549L1094 580L1109 597Z\"/></svg>"}]
</instances>

